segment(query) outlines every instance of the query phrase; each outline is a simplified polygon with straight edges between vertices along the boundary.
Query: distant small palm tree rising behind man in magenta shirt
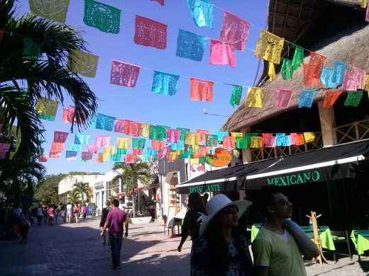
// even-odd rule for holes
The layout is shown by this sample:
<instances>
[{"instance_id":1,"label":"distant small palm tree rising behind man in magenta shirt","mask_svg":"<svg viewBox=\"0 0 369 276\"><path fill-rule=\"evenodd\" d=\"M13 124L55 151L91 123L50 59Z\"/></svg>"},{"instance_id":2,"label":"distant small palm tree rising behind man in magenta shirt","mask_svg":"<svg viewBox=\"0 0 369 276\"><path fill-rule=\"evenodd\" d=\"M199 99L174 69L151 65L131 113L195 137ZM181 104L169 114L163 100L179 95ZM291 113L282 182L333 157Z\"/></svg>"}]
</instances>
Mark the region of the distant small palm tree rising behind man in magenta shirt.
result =
<instances>
[{"instance_id":1,"label":"distant small palm tree rising behind man in magenta shirt","mask_svg":"<svg viewBox=\"0 0 369 276\"><path fill-rule=\"evenodd\" d=\"M114 163L114 171L121 170L121 174L114 176L113 181L121 179L123 183L124 192L128 198L131 197L131 192L133 192L133 217L136 217L136 207L135 207L135 195L134 188L137 188L138 181L143 184L143 187L148 189L150 184L150 166L146 162L140 163Z\"/></svg>"}]
</instances>

